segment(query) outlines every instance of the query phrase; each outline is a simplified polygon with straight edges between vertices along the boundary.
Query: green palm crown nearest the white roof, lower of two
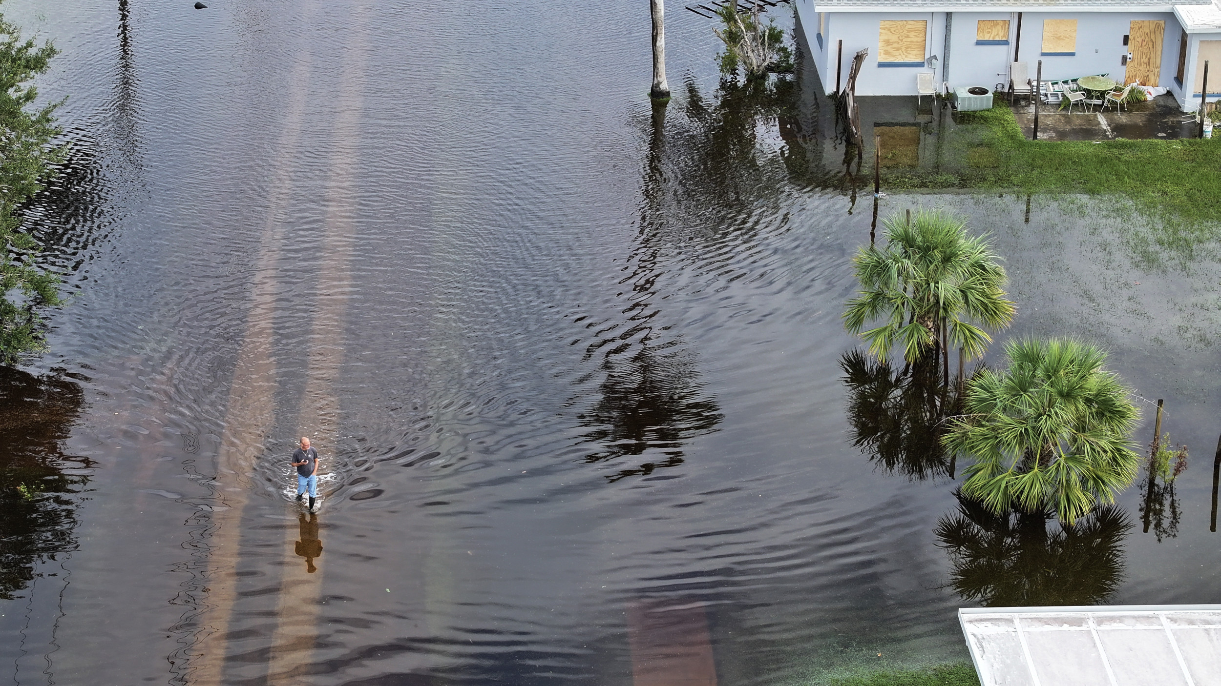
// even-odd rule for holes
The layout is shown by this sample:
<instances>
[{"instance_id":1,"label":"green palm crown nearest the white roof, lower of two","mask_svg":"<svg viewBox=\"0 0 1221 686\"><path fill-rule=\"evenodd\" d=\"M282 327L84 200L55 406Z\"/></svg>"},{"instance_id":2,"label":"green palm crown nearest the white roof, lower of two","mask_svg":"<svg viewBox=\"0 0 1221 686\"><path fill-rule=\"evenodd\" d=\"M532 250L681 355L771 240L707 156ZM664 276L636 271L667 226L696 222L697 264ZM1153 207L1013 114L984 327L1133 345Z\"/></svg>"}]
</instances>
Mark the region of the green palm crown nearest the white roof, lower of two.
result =
<instances>
[{"instance_id":1,"label":"green palm crown nearest the white roof, lower of two","mask_svg":"<svg viewBox=\"0 0 1221 686\"><path fill-rule=\"evenodd\" d=\"M962 492L993 511L1053 509L1072 524L1136 478L1139 413L1106 354L1072 339L1005 347L1009 369L968 383L963 415L943 438L972 460Z\"/></svg>"}]
</instances>

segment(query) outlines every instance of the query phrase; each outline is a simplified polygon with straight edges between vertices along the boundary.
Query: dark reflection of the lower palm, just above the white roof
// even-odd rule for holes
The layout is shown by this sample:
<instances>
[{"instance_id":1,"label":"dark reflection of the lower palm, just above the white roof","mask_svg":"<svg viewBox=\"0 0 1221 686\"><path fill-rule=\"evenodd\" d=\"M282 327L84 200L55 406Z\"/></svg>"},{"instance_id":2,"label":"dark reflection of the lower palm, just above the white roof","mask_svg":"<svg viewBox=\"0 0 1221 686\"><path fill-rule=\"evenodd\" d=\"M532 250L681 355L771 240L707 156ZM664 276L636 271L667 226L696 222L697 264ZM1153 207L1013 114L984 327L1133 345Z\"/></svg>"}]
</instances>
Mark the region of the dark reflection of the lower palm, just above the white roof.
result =
<instances>
[{"instance_id":1,"label":"dark reflection of the lower palm, just above the white roof","mask_svg":"<svg viewBox=\"0 0 1221 686\"><path fill-rule=\"evenodd\" d=\"M1093 605L1123 580L1123 538L1132 529L1115 505L1068 526L1050 513L993 514L955 493L958 511L938 522L951 586L985 607Z\"/></svg>"}]
</instances>

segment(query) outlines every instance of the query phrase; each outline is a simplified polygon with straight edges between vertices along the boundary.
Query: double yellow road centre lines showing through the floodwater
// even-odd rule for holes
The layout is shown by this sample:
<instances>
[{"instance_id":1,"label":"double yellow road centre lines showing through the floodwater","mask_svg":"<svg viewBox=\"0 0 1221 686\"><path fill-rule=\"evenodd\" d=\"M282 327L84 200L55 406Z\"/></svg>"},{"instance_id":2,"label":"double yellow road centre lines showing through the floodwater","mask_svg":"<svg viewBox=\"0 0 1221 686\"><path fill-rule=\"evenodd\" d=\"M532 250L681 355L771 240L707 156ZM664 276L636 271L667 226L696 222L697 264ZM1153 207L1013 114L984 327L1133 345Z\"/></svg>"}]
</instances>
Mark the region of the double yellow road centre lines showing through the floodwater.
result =
<instances>
[{"instance_id":1,"label":"double yellow road centre lines showing through the floodwater","mask_svg":"<svg viewBox=\"0 0 1221 686\"><path fill-rule=\"evenodd\" d=\"M306 20L313 20L314 4L306 5ZM271 471L287 469L284 449L278 444L267 446L275 416L276 387L274 345L276 331L272 326L277 299L281 297L278 275L299 269L286 262L283 244L289 236L284 209L294 189L293 170L305 153L302 133L305 126L306 95L317 72L326 68L339 74L342 88L336 93L335 118L330 125L331 144L322 150L326 160L327 181L324 204L325 238L317 266L310 270L308 283L313 288L314 309L309 315L309 336L302 342L306 358L306 382L298 399L295 426L298 433L311 437L324 457L320 477L337 466L339 438L339 398L335 387L343 365L343 331L347 322L348 300L354 289L352 278L352 254L355 234L358 201L355 173L359 165L358 150L360 131L357 126L364 105L363 84L369 54L366 22L370 21L365 4L353 5L354 26L358 29L348 43L348 50L336 65L322 62L313 55L298 55L289 79L292 101L288 104L282 138L277 144L275 181L269 198L267 221L264 239L259 244L256 273L250 295L250 314L234 369L228 411L225 417L221 452L217 457L217 481L225 493L225 509L212 514L212 535L209 543L210 574L205 580L210 591L204 597L206 610L195 621L203 625L199 642L190 649L198 654L188 663L188 681L203 685L231 682L226 673L226 660L231 657L227 637L234 631L231 618L242 602L238 593L237 571L242 566L242 520L250 516L250 496L263 489L263 483L250 482L242 475L255 471L259 463L271 463ZM308 49L308 48L306 48ZM231 483L232 487L226 487ZM324 485L326 482L324 481ZM325 500L325 486L319 496ZM261 503L260 503L261 504ZM292 557L297 529L283 527L286 538L281 553L286 561L271 564L282 570L277 605L272 614L275 629L266 651L266 679L299 676L302 665L311 662L317 636L317 620L322 572L302 571L299 565L287 564ZM264 560L267 561L267 560Z\"/></svg>"}]
</instances>

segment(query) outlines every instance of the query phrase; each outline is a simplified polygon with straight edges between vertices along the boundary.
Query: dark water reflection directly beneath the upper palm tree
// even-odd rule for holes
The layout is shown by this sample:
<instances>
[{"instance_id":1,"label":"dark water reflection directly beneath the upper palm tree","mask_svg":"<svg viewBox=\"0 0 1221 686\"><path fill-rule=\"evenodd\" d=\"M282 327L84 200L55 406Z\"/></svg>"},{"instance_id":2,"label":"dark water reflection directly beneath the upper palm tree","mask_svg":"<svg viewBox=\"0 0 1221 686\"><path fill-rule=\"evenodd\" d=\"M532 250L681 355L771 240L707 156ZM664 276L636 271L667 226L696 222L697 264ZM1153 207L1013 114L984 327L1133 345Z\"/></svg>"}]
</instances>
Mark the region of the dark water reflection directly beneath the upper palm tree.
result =
<instances>
[{"instance_id":1,"label":"dark water reflection directly beneath the upper palm tree","mask_svg":"<svg viewBox=\"0 0 1221 686\"><path fill-rule=\"evenodd\" d=\"M894 370L860 350L840 358L849 389L847 419L852 446L890 474L923 481L954 476L941 448L945 419L958 409L954 383L945 385L935 361Z\"/></svg>"}]
</instances>

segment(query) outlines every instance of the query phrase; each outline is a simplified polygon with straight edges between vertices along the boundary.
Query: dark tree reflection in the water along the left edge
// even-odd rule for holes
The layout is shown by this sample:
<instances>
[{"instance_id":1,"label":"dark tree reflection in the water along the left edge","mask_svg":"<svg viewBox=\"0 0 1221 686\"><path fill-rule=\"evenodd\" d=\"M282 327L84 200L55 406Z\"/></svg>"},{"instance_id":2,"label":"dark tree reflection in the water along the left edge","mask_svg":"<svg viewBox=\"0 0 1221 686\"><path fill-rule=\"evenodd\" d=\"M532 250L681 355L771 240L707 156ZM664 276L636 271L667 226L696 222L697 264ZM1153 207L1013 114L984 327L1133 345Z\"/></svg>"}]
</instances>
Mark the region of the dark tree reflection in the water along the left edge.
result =
<instances>
[{"instance_id":1,"label":"dark tree reflection in the water along the left edge","mask_svg":"<svg viewBox=\"0 0 1221 686\"><path fill-rule=\"evenodd\" d=\"M39 576L38 565L76 549L76 498L88 481L60 441L81 410L81 388L55 376L0 367L0 599Z\"/></svg>"}]
</instances>

